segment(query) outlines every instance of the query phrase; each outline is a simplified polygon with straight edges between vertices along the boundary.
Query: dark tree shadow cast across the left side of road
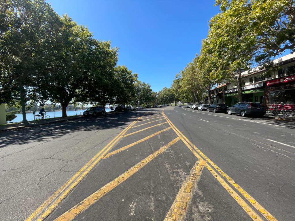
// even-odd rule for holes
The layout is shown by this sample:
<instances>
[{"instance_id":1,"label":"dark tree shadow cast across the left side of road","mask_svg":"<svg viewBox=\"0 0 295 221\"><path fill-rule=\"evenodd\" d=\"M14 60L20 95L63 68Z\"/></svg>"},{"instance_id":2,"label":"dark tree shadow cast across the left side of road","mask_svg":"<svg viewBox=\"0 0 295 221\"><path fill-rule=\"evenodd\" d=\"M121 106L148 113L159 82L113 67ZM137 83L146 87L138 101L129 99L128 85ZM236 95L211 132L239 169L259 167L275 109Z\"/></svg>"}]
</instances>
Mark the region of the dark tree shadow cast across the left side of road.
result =
<instances>
[{"instance_id":1,"label":"dark tree shadow cast across the left side of road","mask_svg":"<svg viewBox=\"0 0 295 221\"><path fill-rule=\"evenodd\" d=\"M141 110L122 112L116 115L105 117L89 117L79 120L69 120L64 122L40 125L35 127L21 128L13 131L0 133L0 148L9 145L23 145L32 142L47 141L50 138L60 138L68 133L77 131L106 130L110 128L125 127L130 121L142 116L153 116L153 111Z\"/></svg>"}]
</instances>

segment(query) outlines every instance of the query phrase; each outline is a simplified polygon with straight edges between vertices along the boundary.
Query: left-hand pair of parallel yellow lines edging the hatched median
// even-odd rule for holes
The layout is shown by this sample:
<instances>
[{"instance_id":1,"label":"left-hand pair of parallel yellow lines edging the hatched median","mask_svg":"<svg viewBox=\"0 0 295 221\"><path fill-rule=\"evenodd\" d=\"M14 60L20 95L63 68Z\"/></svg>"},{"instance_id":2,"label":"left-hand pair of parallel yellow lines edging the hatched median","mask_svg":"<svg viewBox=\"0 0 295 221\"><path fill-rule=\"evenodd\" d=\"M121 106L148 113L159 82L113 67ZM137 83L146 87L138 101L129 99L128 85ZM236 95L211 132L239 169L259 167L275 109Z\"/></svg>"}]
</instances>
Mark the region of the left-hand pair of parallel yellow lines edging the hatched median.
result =
<instances>
[{"instance_id":1,"label":"left-hand pair of parallel yellow lines edging the hatched median","mask_svg":"<svg viewBox=\"0 0 295 221\"><path fill-rule=\"evenodd\" d=\"M144 116L144 115L143 115ZM61 194L61 192L63 192L67 187L69 187L70 188L70 190L69 189L67 189L63 194L62 194L62 196L63 196L63 198L71 191L71 189L73 189L76 185L74 185L74 183L73 184L71 184L75 179L77 179L77 177L79 178L79 175L91 164L91 163L93 163L94 161L95 161L95 159L97 158L97 157L99 157L100 155L101 155L101 153L105 150L105 149L107 149L112 143L116 143L118 140L119 140L119 138L122 136L122 135L124 135L124 133L126 133L127 131L128 131L128 129L130 129L131 127L132 127L132 125L134 125L138 120L140 120L142 118L142 116L141 117L139 117L139 118L137 118L135 121L133 121L129 126L127 126L123 131L121 131L114 139L112 139L112 141L111 142L109 142L101 151L99 151L91 160L89 160L73 177L71 177L67 182L65 182L65 184L63 184L54 194L52 194L45 202L43 202L29 217L27 217L27 219L25 220L25 221L31 221L31 220L33 220L36 216L38 216L50 203L52 203L53 202L53 200L56 198L56 197L58 197L58 195L59 194ZM93 166L92 166L93 167ZM91 168L92 168L91 167ZM90 170L86 170L86 171L90 171ZM84 171L84 173L86 172L86 171ZM87 173L88 173L87 172ZM84 174L83 173L83 174ZM87 174L86 173L86 174ZM83 175L82 174L82 175ZM85 175L86 175L85 174ZM85 176L85 175L83 175L83 177ZM82 178L83 178L82 177ZM82 179L81 178L81 179ZM79 181L81 180L81 179L79 179ZM70 185L71 184L71 185ZM77 182L76 182L76 184L78 184ZM74 185L74 186L73 186ZM66 194L65 194L66 193ZM56 201L55 202L55 204L54 204L54 206L51 206L51 207L49 207L49 208L51 208L50 210L46 210L43 214L42 214L42 216L41 217L39 217L39 219L38 220L43 220L45 217L47 217L49 214L50 214L50 211L52 211L55 207L57 207L58 206L58 203L60 202L61 200L60 199L58 199L58 201ZM46 216L45 216L46 215Z\"/></svg>"}]
</instances>

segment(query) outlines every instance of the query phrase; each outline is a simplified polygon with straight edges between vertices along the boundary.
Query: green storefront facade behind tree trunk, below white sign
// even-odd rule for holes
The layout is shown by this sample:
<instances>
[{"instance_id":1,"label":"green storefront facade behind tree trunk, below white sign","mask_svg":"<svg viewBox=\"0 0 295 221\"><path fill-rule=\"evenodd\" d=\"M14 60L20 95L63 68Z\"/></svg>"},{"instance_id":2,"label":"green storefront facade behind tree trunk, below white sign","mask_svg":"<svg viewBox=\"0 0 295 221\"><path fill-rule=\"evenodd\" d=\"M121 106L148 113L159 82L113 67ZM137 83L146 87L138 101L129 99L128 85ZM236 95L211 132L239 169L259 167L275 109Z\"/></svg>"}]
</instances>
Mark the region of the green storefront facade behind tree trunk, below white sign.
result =
<instances>
[{"instance_id":1,"label":"green storefront facade behind tree trunk, below white sign","mask_svg":"<svg viewBox=\"0 0 295 221\"><path fill-rule=\"evenodd\" d=\"M264 103L264 88L245 90L243 93L243 102L258 102ZM227 93L223 95L224 103L231 107L239 102L238 93Z\"/></svg>"}]
</instances>

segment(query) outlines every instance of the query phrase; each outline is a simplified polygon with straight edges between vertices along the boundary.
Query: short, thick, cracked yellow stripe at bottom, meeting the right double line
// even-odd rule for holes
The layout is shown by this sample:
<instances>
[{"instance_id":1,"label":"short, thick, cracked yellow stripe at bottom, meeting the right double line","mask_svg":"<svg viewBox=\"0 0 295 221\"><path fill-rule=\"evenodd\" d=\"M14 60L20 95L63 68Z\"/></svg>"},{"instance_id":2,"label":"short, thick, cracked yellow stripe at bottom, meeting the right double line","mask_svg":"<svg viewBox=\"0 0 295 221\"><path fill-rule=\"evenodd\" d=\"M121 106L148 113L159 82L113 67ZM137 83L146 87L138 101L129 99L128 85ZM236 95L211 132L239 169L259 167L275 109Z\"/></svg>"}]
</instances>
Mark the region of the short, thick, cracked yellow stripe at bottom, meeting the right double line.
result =
<instances>
[{"instance_id":1,"label":"short, thick, cracked yellow stripe at bottom, meeting the right double line","mask_svg":"<svg viewBox=\"0 0 295 221\"><path fill-rule=\"evenodd\" d=\"M204 169L204 164L206 164L206 161L203 159L198 160L193 169L191 169L189 176L182 184L164 221L181 221L184 219L186 208L191 201L193 189L197 186L202 170Z\"/></svg>"}]
</instances>

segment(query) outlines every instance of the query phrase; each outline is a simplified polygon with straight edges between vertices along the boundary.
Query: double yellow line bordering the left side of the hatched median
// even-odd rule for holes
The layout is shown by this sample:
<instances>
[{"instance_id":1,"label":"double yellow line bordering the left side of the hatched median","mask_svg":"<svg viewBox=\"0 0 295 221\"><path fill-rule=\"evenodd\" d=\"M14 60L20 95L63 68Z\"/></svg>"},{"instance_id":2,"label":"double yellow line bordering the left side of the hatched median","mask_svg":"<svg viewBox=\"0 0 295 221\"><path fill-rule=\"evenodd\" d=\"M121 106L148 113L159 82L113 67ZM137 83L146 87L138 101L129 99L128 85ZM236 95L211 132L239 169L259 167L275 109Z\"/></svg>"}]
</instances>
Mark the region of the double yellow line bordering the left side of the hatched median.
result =
<instances>
[{"instance_id":1,"label":"double yellow line bordering the left side of the hatched median","mask_svg":"<svg viewBox=\"0 0 295 221\"><path fill-rule=\"evenodd\" d=\"M40 213L43 210L45 210L45 208L59 196L37 220L44 220L48 215L50 215L50 213L58 206L58 204L71 192L71 190L74 187L76 187L76 185L89 173L89 171L98 163L98 161L102 159L101 154L104 156L106 154L106 151L112 148L112 146L114 146L114 144L116 144L117 141L121 138L121 136L124 135L143 116L137 118L123 131L121 131L114 139L112 139L111 142L109 142L103 149L101 149L101 151L99 151L91 160L89 160L73 177L71 177L67 182L65 182L65 184L63 184L54 194L52 194L45 202L43 202L29 217L27 217L25 221L31 221L36 216L40 215Z\"/></svg>"}]
</instances>

